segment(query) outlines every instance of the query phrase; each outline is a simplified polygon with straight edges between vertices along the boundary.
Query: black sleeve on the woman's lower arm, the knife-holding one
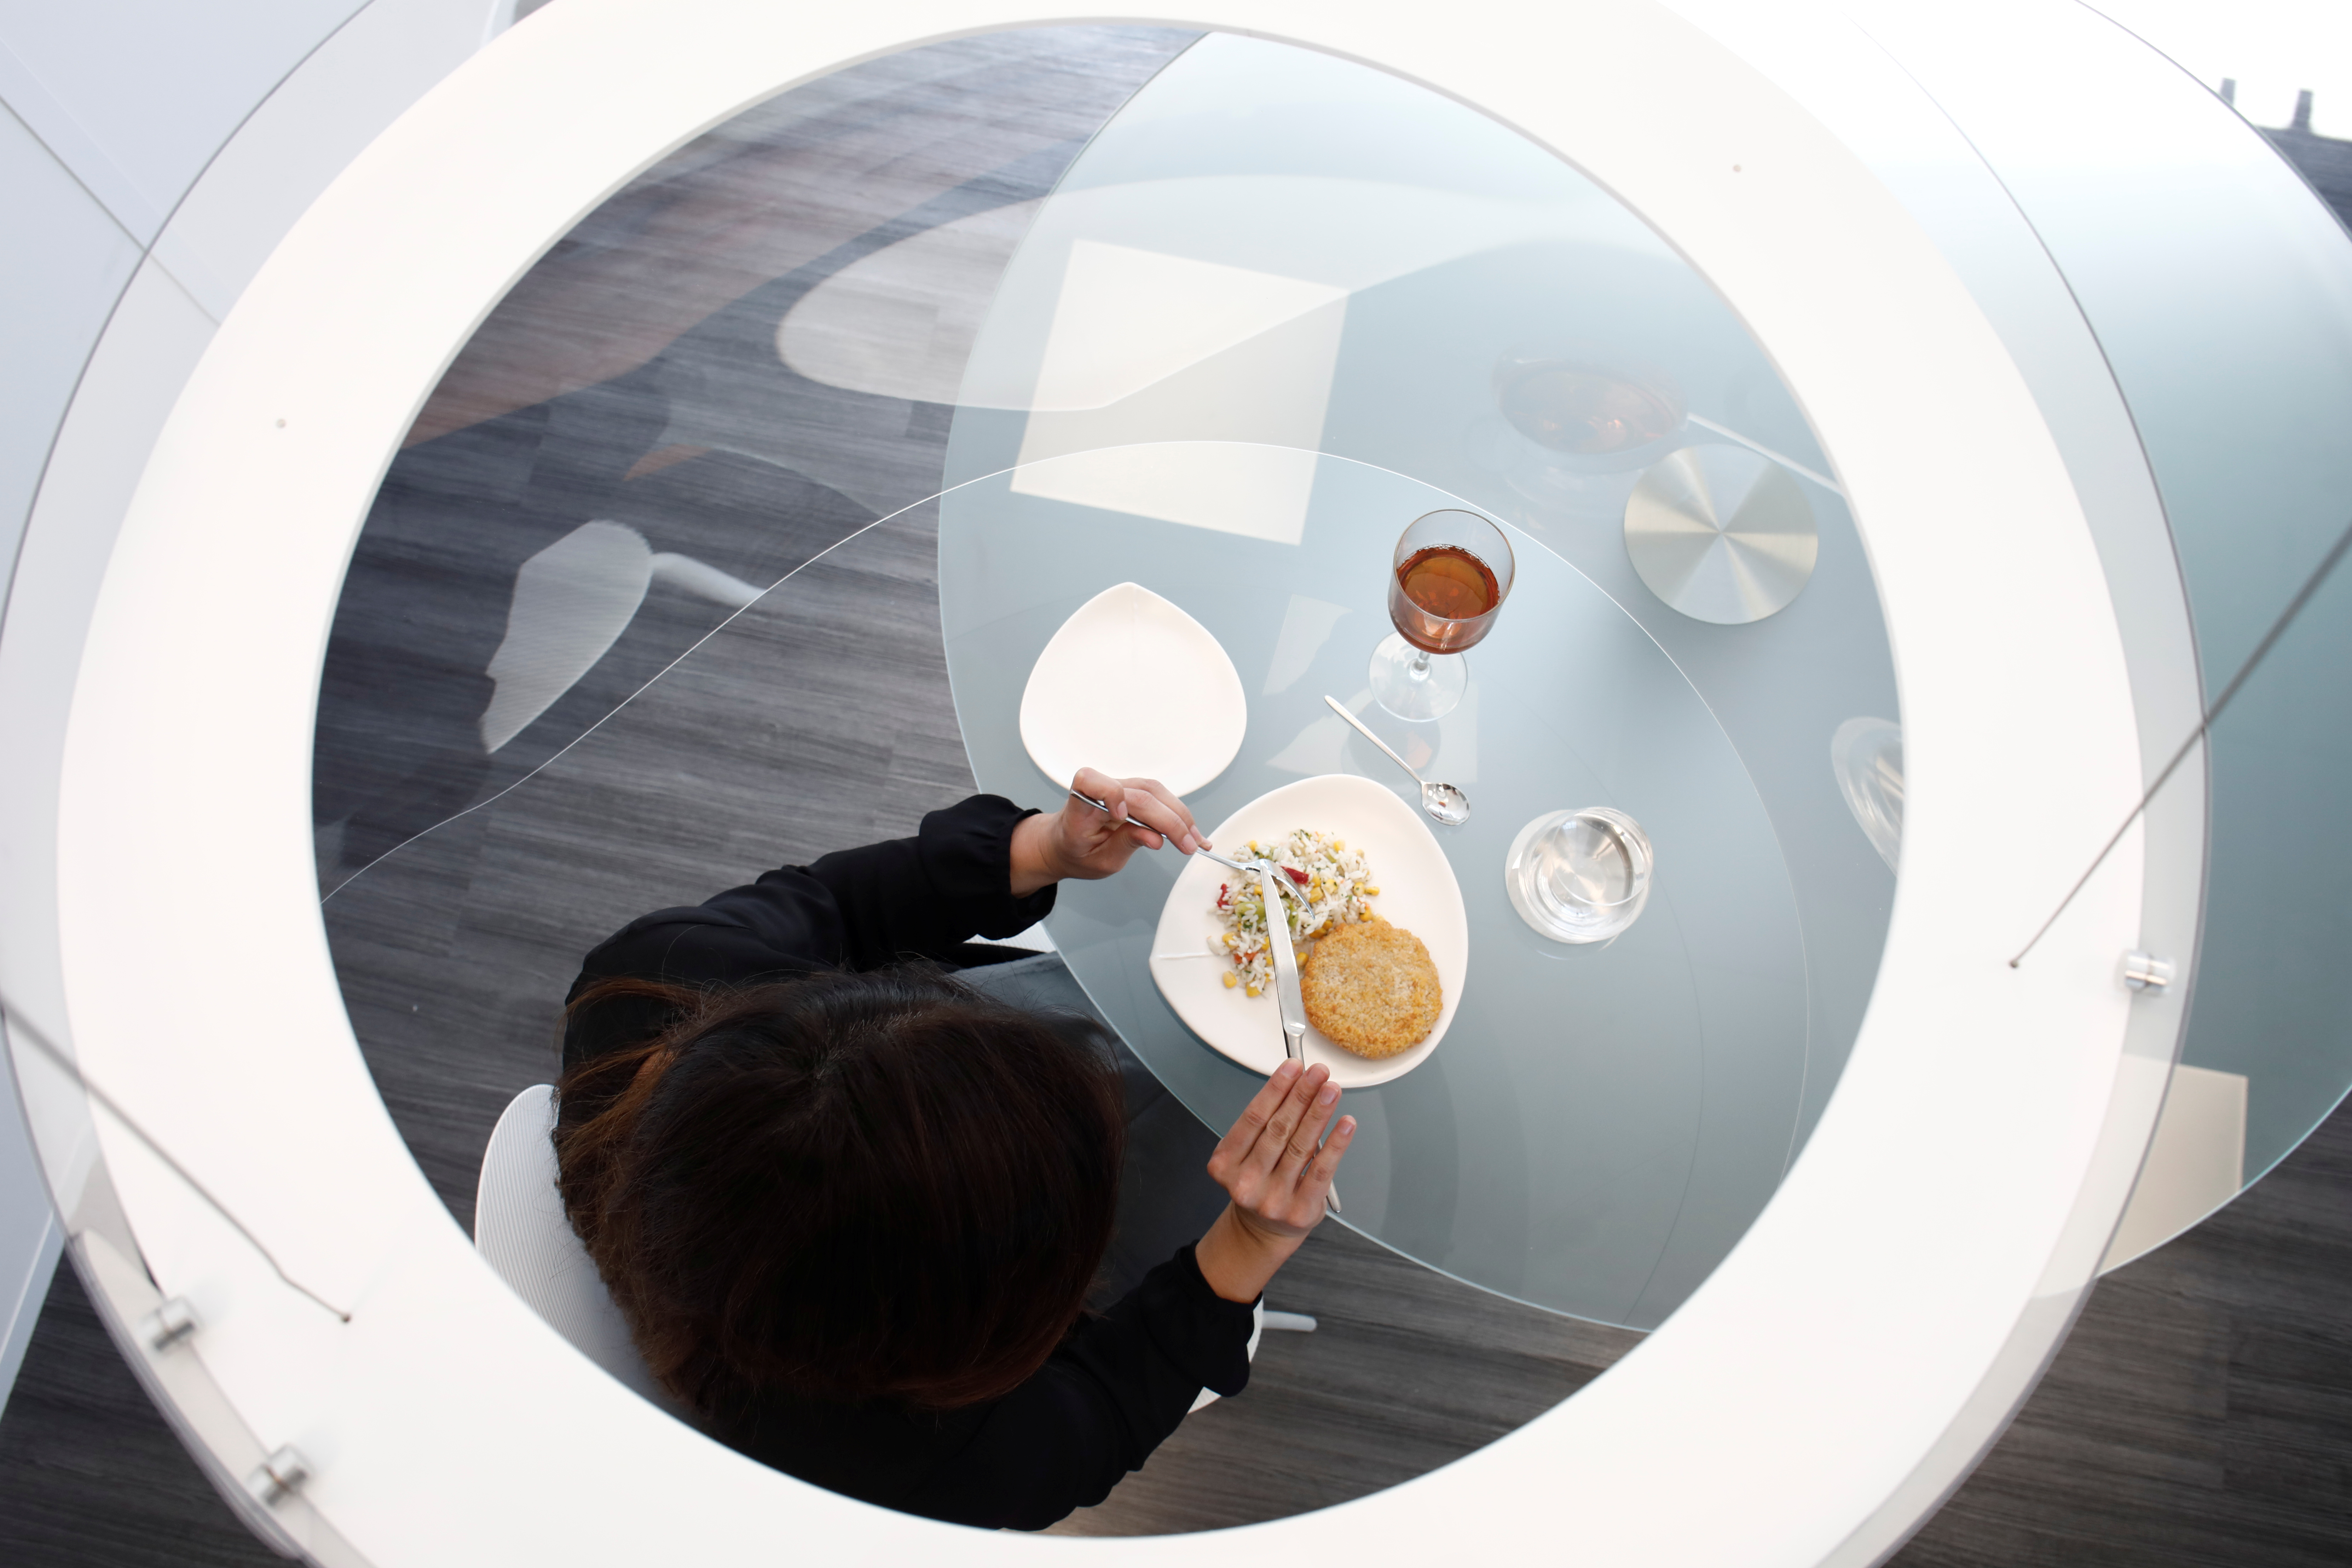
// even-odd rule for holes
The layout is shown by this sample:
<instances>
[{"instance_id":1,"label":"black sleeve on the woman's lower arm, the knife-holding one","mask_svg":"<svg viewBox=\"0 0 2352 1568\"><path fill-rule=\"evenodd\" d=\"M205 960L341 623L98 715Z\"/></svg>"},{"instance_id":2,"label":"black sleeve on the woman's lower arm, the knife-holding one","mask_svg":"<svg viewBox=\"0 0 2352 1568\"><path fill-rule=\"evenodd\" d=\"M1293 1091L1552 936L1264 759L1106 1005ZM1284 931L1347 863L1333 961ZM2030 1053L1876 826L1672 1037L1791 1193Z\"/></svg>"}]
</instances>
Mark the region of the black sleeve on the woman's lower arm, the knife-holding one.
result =
<instances>
[{"instance_id":1,"label":"black sleeve on the woman's lower arm, the knife-holding one","mask_svg":"<svg viewBox=\"0 0 2352 1568\"><path fill-rule=\"evenodd\" d=\"M1042 1530L1094 1507L1143 1467L1204 1387L1242 1392L1251 1331L1251 1307L1211 1291L1192 1248L1181 1248L1110 1312L1082 1321L903 1507L1000 1530Z\"/></svg>"}]
</instances>

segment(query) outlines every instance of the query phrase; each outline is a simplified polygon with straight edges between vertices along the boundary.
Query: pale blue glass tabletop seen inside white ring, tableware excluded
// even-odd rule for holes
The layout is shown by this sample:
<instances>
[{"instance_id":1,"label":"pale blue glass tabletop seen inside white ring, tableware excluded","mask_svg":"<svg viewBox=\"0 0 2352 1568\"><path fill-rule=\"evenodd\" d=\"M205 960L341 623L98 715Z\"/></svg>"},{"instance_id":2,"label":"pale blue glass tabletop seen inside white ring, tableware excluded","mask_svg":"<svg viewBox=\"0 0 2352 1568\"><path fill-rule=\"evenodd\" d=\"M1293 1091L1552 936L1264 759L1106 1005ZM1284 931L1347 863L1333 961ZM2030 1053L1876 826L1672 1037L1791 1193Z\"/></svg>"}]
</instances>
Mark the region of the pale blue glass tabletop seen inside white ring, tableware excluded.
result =
<instances>
[{"instance_id":1,"label":"pale blue glass tabletop seen inside white ring, tableware excluded","mask_svg":"<svg viewBox=\"0 0 2352 1568\"><path fill-rule=\"evenodd\" d=\"M1207 35L1037 202L974 334L938 512L974 773L1058 795L1018 733L1030 668L1134 581L1247 691L1204 823L1317 773L1416 799L1324 696L1463 785L1472 820L1432 825L1470 919L1461 1016L1350 1095L1345 1220L1522 1300L1658 1324L1802 1147L1886 933L1900 712L1828 468L1738 317L1571 165L1409 82ZM1519 581L1461 708L1404 724L1367 672L1390 550L1439 508L1505 524ZM1545 940L1503 884L1522 825L1583 806L1656 849L1606 947ZM1254 1077L1145 969L1174 875L1065 889L1049 929L1223 1126Z\"/></svg>"}]
</instances>

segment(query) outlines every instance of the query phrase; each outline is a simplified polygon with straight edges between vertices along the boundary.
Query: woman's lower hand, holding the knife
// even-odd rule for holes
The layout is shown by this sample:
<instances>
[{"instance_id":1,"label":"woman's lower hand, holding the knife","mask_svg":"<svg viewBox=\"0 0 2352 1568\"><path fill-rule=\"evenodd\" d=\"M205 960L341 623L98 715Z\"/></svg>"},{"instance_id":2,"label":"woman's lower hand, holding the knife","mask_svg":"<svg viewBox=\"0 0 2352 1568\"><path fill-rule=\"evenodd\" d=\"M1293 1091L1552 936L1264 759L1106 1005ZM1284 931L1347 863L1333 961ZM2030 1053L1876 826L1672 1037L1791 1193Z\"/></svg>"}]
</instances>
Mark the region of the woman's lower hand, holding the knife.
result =
<instances>
[{"instance_id":1,"label":"woman's lower hand, holding the knife","mask_svg":"<svg viewBox=\"0 0 2352 1568\"><path fill-rule=\"evenodd\" d=\"M1338 1110L1338 1084L1329 1079L1329 1067L1301 1072L1282 1063L1209 1157L1209 1175L1232 1201L1192 1258L1225 1300L1258 1300L1324 1218L1331 1175L1355 1138L1355 1117L1322 1135Z\"/></svg>"}]
</instances>

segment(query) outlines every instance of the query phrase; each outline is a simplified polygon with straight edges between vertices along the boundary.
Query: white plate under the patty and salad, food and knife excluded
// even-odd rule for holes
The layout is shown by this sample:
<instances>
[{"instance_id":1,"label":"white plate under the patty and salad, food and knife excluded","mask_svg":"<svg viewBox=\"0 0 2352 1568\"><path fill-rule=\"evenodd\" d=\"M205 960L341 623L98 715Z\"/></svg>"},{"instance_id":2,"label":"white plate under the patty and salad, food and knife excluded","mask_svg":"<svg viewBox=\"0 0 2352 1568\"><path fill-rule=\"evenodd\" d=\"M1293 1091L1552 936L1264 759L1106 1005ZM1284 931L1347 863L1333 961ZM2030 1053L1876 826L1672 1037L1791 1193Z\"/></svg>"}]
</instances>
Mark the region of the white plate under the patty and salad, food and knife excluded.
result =
<instances>
[{"instance_id":1,"label":"white plate under the patty and salad, food and knife excluded","mask_svg":"<svg viewBox=\"0 0 2352 1568\"><path fill-rule=\"evenodd\" d=\"M1446 1037L1461 1006L1463 980L1470 976L1470 914L1463 910L1454 865L1414 806L1352 773L1301 778L1261 795L1211 827L1209 842L1221 853L1235 853L1249 839L1272 839L1294 827L1331 832L1348 839L1348 849L1364 851L1381 889L1371 900L1374 912L1421 938L1444 987L1437 1027L1411 1051L1367 1060L1334 1046L1322 1030L1308 1025L1308 1063L1329 1067L1331 1081L1341 1088L1402 1079ZM1195 856L1185 863L1160 910L1152 980L1195 1034L1251 1072L1272 1072L1282 1065L1282 1013L1275 1009L1275 994L1268 990L1263 997L1249 997L1240 985L1228 990L1225 971L1232 966L1223 959L1169 957L1207 954L1209 940L1225 929L1214 912L1216 886L1230 879L1232 872L1214 860ZM1305 952L1298 957L1305 959Z\"/></svg>"}]
</instances>

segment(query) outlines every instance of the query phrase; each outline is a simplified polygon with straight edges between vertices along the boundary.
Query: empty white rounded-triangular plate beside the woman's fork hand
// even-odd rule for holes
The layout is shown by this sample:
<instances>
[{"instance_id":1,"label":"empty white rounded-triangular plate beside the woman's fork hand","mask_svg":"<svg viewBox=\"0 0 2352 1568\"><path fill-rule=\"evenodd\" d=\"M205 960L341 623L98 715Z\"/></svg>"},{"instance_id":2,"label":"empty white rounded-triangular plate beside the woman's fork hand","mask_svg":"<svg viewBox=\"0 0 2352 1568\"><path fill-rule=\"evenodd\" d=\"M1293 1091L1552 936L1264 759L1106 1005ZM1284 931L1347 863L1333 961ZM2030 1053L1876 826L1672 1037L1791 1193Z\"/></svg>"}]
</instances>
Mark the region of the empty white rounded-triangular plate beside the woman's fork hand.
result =
<instances>
[{"instance_id":1,"label":"empty white rounded-triangular plate beside the woman's fork hand","mask_svg":"<svg viewBox=\"0 0 2352 1568\"><path fill-rule=\"evenodd\" d=\"M1138 583L1080 604L1021 691L1021 745L1058 785L1101 769L1190 795L1225 771L1247 729L1225 644Z\"/></svg>"}]
</instances>

